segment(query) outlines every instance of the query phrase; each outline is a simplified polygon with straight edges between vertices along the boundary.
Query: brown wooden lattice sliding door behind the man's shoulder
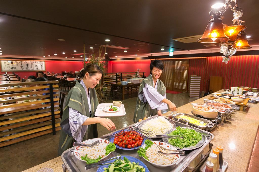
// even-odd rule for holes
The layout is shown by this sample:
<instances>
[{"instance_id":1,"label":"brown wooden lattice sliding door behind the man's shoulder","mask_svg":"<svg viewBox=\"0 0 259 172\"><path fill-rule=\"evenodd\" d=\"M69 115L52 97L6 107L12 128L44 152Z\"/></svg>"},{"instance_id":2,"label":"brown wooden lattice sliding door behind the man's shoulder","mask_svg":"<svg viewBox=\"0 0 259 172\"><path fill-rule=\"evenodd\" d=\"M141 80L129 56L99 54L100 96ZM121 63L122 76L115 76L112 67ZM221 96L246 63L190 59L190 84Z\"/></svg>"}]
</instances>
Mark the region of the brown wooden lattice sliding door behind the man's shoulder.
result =
<instances>
[{"instance_id":1,"label":"brown wooden lattice sliding door behind the man's shoulder","mask_svg":"<svg viewBox=\"0 0 259 172\"><path fill-rule=\"evenodd\" d=\"M189 60L162 60L164 70L159 78L166 89L186 92Z\"/></svg>"}]
</instances>

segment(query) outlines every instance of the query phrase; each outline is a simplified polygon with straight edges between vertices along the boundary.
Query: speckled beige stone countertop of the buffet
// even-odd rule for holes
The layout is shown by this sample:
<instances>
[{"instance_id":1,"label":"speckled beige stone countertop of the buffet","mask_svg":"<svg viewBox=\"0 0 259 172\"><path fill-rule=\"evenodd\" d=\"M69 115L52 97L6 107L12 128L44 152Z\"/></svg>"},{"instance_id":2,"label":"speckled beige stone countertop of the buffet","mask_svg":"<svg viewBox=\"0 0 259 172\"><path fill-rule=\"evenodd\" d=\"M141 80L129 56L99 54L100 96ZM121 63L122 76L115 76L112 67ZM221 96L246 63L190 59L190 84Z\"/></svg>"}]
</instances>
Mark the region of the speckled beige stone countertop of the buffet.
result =
<instances>
[{"instance_id":1,"label":"speckled beige stone countertop of the buffet","mask_svg":"<svg viewBox=\"0 0 259 172\"><path fill-rule=\"evenodd\" d=\"M210 96L202 97L192 103L203 103L203 99L208 99ZM190 103L185 104L178 107L177 111L192 114L192 105ZM249 103L246 111L235 111L224 125L218 124L211 132L214 135L211 141L213 148L217 145L223 147L223 160L228 162L227 171L246 171L259 124L258 111L259 106L257 103ZM164 113L163 116L168 116L169 113L170 111ZM25 171L37 171L41 168L49 167L53 168L55 172L62 172L62 164L61 157L57 157Z\"/></svg>"}]
</instances>

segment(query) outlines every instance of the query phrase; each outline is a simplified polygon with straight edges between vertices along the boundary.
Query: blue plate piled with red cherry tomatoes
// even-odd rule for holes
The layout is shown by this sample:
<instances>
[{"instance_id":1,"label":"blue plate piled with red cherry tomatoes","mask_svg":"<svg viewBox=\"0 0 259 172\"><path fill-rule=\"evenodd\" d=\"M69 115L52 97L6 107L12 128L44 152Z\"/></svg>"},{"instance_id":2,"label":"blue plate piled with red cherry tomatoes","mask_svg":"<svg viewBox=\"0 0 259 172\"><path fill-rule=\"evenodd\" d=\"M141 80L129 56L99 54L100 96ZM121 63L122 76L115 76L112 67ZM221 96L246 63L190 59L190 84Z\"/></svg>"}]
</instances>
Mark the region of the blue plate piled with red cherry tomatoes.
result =
<instances>
[{"instance_id":1,"label":"blue plate piled with red cherry tomatoes","mask_svg":"<svg viewBox=\"0 0 259 172\"><path fill-rule=\"evenodd\" d=\"M110 138L110 142L116 145L116 148L123 150L132 150L138 149L143 142L145 142L146 138L143 138L139 135L139 133L135 131L120 131L115 132L115 137ZM117 136L119 134L123 134Z\"/></svg>"}]
</instances>

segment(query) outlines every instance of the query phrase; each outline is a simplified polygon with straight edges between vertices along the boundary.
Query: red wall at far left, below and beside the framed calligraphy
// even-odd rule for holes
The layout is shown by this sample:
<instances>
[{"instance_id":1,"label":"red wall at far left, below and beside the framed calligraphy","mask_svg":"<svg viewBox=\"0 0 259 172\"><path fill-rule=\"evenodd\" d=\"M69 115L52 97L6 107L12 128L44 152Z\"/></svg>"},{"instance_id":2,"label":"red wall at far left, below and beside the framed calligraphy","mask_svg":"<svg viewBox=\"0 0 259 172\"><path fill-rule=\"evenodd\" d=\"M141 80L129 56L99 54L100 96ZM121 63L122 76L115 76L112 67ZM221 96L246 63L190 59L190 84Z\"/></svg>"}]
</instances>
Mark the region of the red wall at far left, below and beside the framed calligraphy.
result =
<instances>
[{"instance_id":1,"label":"red wall at far left, below and beside the framed calligraphy","mask_svg":"<svg viewBox=\"0 0 259 172\"><path fill-rule=\"evenodd\" d=\"M51 61L51 60L46 60L45 61L45 67L46 71L49 72L55 72L55 73L61 73L61 71L78 71L83 68L83 62L78 62L78 61ZM15 72L15 71L14 71ZM4 72L1 72L4 73ZM11 72L8 72L11 73ZM27 79L28 76L34 75L36 76L36 72L15 72L21 78Z\"/></svg>"}]
</instances>

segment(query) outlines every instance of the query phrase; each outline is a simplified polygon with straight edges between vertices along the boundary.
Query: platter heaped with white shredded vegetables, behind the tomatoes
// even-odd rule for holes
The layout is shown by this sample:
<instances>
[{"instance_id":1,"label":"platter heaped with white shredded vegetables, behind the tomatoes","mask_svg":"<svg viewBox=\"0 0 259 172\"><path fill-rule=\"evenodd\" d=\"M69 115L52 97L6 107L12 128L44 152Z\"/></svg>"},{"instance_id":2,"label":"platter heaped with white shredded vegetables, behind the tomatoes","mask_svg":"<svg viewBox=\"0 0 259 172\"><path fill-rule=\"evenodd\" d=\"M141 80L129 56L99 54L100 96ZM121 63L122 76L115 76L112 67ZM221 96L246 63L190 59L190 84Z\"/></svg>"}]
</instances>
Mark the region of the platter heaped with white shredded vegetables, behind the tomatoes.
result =
<instances>
[{"instance_id":1,"label":"platter heaped with white shredded vegetables, behind the tomatoes","mask_svg":"<svg viewBox=\"0 0 259 172\"><path fill-rule=\"evenodd\" d=\"M152 132L152 134L149 135L149 138L156 138L156 135L163 135L165 132L175 127L176 125L173 120L161 116L153 116L141 121L138 125L138 128Z\"/></svg>"}]
</instances>

